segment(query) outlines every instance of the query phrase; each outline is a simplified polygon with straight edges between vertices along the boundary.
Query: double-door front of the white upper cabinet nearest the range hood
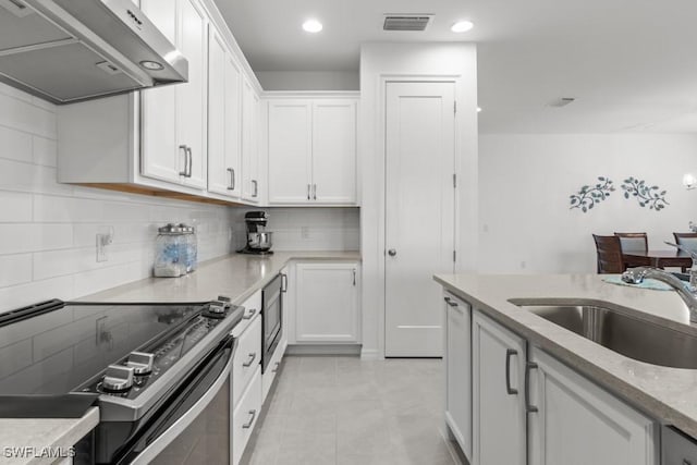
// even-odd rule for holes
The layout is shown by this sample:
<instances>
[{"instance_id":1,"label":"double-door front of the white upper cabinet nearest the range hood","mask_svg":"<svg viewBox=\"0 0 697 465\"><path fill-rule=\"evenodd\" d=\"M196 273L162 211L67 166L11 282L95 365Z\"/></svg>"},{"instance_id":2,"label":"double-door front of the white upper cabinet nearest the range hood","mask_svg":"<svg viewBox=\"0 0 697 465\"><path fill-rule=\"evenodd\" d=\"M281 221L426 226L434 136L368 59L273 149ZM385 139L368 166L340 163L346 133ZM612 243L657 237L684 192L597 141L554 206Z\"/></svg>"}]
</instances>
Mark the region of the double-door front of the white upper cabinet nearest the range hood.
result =
<instances>
[{"instance_id":1,"label":"double-door front of the white upper cabinet nearest the range hood","mask_svg":"<svg viewBox=\"0 0 697 465\"><path fill-rule=\"evenodd\" d=\"M143 0L140 7L188 60L187 83L142 94L142 173L205 189L206 15L194 0Z\"/></svg>"}]
</instances>

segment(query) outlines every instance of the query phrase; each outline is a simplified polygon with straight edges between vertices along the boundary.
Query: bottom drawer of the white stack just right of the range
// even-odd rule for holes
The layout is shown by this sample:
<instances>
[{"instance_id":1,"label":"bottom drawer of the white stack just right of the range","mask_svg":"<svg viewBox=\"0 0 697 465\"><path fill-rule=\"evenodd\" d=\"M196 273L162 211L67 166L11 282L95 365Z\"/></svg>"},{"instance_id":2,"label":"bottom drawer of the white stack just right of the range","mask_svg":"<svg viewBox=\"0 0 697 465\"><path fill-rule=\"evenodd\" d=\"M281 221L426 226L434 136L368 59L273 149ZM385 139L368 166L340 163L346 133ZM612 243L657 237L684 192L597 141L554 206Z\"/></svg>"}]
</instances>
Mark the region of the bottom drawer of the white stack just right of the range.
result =
<instances>
[{"instance_id":1,"label":"bottom drawer of the white stack just right of the range","mask_svg":"<svg viewBox=\"0 0 697 465\"><path fill-rule=\"evenodd\" d=\"M232 464L237 465L249 442L252 431L261 413L261 366L257 368L240 400L240 405L232 413Z\"/></svg>"}]
</instances>

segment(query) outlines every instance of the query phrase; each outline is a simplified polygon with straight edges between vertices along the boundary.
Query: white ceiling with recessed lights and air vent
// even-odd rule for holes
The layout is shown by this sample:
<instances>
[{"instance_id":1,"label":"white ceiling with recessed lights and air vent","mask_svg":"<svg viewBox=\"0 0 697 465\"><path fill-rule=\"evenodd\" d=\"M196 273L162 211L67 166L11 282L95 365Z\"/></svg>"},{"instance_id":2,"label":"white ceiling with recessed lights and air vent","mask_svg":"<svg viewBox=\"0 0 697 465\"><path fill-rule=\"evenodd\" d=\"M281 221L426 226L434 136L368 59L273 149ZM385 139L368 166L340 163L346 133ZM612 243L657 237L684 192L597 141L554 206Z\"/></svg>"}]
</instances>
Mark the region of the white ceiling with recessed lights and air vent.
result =
<instances>
[{"instance_id":1,"label":"white ceiling with recessed lights and air vent","mask_svg":"<svg viewBox=\"0 0 697 465\"><path fill-rule=\"evenodd\" d=\"M697 133L694 0L216 0L255 71L357 72L366 41L472 41L482 133ZM386 13L432 13L384 32ZM308 17L325 29L301 29ZM468 19L475 28L450 26ZM560 97L576 100L549 107Z\"/></svg>"}]
</instances>

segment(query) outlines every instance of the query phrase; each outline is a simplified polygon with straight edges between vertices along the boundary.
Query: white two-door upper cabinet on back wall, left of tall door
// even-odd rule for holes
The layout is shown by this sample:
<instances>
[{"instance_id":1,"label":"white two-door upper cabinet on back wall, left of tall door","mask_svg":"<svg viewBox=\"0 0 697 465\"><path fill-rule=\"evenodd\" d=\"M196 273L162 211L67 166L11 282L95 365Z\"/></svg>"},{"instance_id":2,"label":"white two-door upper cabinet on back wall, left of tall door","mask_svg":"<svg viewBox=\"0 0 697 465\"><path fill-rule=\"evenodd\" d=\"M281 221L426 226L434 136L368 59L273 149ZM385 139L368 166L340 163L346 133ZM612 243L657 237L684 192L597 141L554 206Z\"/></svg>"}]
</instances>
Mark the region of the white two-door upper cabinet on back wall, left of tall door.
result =
<instances>
[{"instance_id":1,"label":"white two-door upper cabinet on back wall, left of tall door","mask_svg":"<svg viewBox=\"0 0 697 465\"><path fill-rule=\"evenodd\" d=\"M356 101L268 100L269 204L355 205Z\"/></svg>"}]
</instances>

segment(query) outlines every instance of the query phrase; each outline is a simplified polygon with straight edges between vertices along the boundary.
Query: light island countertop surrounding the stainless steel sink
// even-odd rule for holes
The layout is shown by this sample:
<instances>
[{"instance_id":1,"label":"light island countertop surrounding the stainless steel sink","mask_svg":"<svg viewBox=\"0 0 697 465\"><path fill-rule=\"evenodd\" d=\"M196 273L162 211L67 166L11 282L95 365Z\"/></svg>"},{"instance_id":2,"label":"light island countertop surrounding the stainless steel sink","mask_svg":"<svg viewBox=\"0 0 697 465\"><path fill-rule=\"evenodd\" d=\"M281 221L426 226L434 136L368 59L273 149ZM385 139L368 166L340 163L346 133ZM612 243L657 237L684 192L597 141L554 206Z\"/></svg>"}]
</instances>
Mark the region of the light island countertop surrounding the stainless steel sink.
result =
<instances>
[{"instance_id":1,"label":"light island countertop surrounding the stainless steel sink","mask_svg":"<svg viewBox=\"0 0 697 465\"><path fill-rule=\"evenodd\" d=\"M688 329L689 311L677 293L610 284L597 274L438 274L435 280L647 415L697 438L697 370L625 357L509 302L610 302L649 314L649 319L660 316L672 320L667 325Z\"/></svg>"}]
</instances>

